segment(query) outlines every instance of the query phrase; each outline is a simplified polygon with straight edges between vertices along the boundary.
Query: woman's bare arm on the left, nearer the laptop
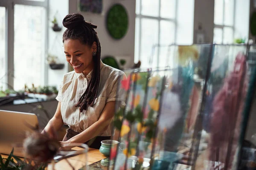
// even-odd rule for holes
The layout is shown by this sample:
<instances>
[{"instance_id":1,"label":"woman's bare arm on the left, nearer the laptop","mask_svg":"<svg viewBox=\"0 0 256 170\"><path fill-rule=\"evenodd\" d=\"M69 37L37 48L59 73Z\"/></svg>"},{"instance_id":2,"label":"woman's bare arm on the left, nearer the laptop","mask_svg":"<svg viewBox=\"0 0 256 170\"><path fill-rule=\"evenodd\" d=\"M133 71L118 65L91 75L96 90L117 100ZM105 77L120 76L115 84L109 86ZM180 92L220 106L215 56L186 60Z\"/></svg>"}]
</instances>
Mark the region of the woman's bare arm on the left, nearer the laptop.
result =
<instances>
[{"instance_id":1,"label":"woman's bare arm on the left, nearer the laptop","mask_svg":"<svg viewBox=\"0 0 256 170\"><path fill-rule=\"evenodd\" d=\"M57 132L62 126L63 126L63 120L61 116L61 102L58 102L58 106L54 116L48 122L47 126L44 128L42 133L46 132L50 136L54 136L54 134L52 133Z\"/></svg>"}]
</instances>

